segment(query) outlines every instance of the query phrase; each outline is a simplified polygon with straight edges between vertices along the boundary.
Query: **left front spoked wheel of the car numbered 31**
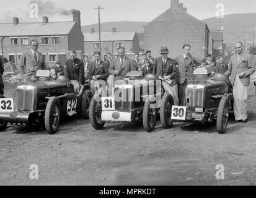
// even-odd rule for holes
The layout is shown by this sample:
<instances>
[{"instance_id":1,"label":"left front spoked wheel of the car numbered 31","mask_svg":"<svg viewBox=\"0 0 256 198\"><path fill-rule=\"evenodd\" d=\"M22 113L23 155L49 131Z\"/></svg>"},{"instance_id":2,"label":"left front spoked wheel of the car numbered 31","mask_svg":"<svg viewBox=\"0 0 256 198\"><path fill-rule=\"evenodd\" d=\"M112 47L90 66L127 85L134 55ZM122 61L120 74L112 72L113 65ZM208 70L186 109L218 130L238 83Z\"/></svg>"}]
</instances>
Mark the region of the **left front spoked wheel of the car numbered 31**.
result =
<instances>
[{"instance_id":1,"label":"left front spoked wheel of the car numbered 31","mask_svg":"<svg viewBox=\"0 0 256 198\"><path fill-rule=\"evenodd\" d=\"M96 101L94 97L90 101L90 109L89 109L89 117L90 124L94 129L102 129L104 127L105 122L101 119L102 113L102 104L101 101Z\"/></svg>"}]
</instances>

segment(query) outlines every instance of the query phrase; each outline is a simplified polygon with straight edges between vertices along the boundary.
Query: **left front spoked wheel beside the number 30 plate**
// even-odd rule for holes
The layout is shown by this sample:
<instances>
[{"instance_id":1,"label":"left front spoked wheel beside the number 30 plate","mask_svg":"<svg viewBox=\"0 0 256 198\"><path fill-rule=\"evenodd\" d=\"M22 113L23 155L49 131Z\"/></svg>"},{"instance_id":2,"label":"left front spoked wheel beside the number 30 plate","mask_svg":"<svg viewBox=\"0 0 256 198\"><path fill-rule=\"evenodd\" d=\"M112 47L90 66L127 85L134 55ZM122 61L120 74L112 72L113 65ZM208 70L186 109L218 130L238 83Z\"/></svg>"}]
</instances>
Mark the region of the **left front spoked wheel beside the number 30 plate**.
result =
<instances>
[{"instance_id":1,"label":"left front spoked wheel beside the number 30 plate","mask_svg":"<svg viewBox=\"0 0 256 198\"><path fill-rule=\"evenodd\" d=\"M160 120L164 129L172 127L172 124L174 123L171 118L172 105L174 105L174 98L172 98L170 93L165 93L164 97L162 97L162 103L160 107Z\"/></svg>"}]
</instances>

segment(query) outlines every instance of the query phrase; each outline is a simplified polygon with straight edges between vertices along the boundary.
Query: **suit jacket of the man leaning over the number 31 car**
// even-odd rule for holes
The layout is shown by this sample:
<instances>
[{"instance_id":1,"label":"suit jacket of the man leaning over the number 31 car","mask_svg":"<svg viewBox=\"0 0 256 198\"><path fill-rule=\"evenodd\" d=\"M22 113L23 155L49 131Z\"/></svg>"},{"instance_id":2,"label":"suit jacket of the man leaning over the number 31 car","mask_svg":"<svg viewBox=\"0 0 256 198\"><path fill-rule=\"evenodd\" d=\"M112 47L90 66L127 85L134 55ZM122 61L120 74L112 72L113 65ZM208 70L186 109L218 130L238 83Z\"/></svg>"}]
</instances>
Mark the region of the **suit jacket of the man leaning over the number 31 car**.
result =
<instances>
[{"instance_id":1,"label":"suit jacket of the man leaning over the number 31 car","mask_svg":"<svg viewBox=\"0 0 256 198\"><path fill-rule=\"evenodd\" d=\"M115 58L111 61L110 67L108 69L109 74L114 75L115 71L120 69L120 58ZM122 79L128 72L134 71L135 65L133 63L133 60L125 56L125 61L123 62L123 69L121 69L121 72L119 75L115 76L114 80L120 80Z\"/></svg>"}]
</instances>

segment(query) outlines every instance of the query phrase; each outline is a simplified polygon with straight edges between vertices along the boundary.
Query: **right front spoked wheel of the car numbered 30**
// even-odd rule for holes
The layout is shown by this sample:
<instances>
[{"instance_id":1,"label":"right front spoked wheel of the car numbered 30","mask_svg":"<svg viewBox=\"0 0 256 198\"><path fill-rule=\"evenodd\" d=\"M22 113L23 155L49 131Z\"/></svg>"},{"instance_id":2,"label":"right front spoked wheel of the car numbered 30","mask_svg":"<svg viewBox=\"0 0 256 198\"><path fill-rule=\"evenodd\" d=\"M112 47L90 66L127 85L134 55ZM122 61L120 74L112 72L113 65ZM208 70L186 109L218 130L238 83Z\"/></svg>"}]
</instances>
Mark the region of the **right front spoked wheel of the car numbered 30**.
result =
<instances>
[{"instance_id":1,"label":"right front spoked wheel of the car numbered 30","mask_svg":"<svg viewBox=\"0 0 256 198\"><path fill-rule=\"evenodd\" d=\"M227 123L229 121L229 98L223 97L219 102L219 108L217 113L217 131L219 134L224 134L227 129Z\"/></svg>"}]
</instances>

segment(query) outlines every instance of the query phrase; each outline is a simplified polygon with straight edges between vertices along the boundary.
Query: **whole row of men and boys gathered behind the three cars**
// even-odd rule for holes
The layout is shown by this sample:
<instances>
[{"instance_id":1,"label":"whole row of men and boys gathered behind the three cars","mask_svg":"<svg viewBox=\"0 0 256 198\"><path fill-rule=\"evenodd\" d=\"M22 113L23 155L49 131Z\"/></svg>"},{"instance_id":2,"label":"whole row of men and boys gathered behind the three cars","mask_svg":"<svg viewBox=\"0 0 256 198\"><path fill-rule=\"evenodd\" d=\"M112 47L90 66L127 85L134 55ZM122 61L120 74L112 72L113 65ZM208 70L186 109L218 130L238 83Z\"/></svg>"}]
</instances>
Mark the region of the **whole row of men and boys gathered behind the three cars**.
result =
<instances>
[{"instance_id":1,"label":"whole row of men and boys gathered behind the three cars","mask_svg":"<svg viewBox=\"0 0 256 198\"><path fill-rule=\"evenodd\" d=\"M31 49L23 53L20 57L18 70L24 79L29 79L38 69L46 68L45 58L38 52L38 41L30 41ZM77 80L79 84L90 82L90 87L94 93L95 82L107 82L108 76L112 75L114 80L123 79L130 71L138 71L141 77L147 74L154 74L157 78L162 77L164 90L172 95L174 104L185 106L185 87L193 79L193 71L198 67L203 67L208 74L222 73L230 76L234 93L234 123L247 122L247 92L250 84L250 75L255 72L254 56L247 54L243 50L241 42L234 46L236 54L231 56L229 64L223 62L223 57L213 59L208 54L206 59L198 59L192 53L191 45L183 45L182 53L175 59L169 58L169 49L162 47L158 58L151 56L151 51L143 53L141 60L139 53L135 53L134 59L126 56L125 48L118 48L118 57L113 58L111 53L107 53L107 59L101 59L100 51L94 52L94 61L89 61L85 56L84 61L77 58L76 51L70 51L70 58L65 66L61 66L60 61L56 61L55 67L51 68L56 75L65 75L70 80ZM0 59L1 61L1 59ZM3 95L2 63L0 62L0 95ZM166 82L171 80L172 84Z\"/></svg>"}]
</instances>

